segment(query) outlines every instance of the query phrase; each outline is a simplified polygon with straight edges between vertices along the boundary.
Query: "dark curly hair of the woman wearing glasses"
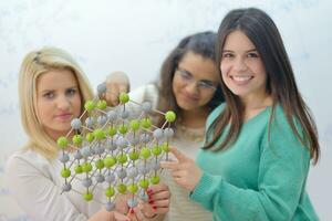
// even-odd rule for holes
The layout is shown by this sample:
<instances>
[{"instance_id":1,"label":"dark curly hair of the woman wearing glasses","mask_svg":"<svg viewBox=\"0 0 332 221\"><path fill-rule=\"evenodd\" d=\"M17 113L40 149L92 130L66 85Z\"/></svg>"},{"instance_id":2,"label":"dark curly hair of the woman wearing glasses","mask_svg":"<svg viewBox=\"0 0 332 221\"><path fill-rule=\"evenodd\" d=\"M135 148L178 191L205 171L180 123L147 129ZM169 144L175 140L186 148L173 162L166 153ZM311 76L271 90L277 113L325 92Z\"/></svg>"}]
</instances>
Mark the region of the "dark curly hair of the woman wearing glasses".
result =
<instances>
[{"instance_id":1,"label":"dark curly hair of the woman wearing glasses","mask_svg":"<svg viewBox=\"0 0 332 221\"><path fill-rule=\"evenodd\" d=\"M157 104L157 108L159 110L166 112L168 109L173 109L175 113L177 113L177 115L180 114L180 107L176 103L172 88L174 74L178 63L188 52L194 52L195 54L201 55L203 57L209 59L216 63L216 42L217 33L210 31L199 32L184 38L169 53L160 69L160 82L158 85L159 99ZM207 105L212 109L224 101L221 87L218 85L214 97L208 102ZM180 119L180 116L178 116L177 119ZM163 123L163 118L157 119L157 125L160 126Z\"/></svg>"}]
</instances>

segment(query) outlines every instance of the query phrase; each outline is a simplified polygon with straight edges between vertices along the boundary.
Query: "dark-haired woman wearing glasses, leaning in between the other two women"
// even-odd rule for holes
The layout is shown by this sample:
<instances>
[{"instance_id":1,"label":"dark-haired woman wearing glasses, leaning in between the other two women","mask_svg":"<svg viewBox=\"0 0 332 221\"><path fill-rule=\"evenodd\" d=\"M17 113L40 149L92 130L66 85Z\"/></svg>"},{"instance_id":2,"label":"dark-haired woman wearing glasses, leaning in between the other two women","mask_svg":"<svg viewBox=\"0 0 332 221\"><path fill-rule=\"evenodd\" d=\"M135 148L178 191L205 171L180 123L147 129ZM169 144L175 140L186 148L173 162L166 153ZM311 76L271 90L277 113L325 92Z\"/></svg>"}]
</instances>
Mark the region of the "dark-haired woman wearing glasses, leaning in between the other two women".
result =
<instances>
[{"instance_id":1,"label":"dark-haired woman wearing glasses, leaning in between the other two women","mask_svg":"<svg viewBox=\"0 0 332 221\"><path fill-rule=\"evenodd\" d=\"M174 124L176 135L172 145L181 147L181 151L193 159L201 147L208 114L224 102L215 62L216 40L217 34L212 32L184 38L164 61L160 80L131 93L133 101L139 103L147 101L155 109L162 112L173 109L177 114ZM115 75L111 74L107 82L114 82ZM112 99L114 92L110 92L106 96L107 99ZM163 123L163 116L156 115L154 124L160 127ZM160 179L168 185L172 192L169 212L165 218L156 217L154 220L210 221L212 219L211 213L198 203L189 201L188 192L175 185L168 171L163 171ZM152 200L151 203L157 202Z\"/></svg>"}]
</instances>

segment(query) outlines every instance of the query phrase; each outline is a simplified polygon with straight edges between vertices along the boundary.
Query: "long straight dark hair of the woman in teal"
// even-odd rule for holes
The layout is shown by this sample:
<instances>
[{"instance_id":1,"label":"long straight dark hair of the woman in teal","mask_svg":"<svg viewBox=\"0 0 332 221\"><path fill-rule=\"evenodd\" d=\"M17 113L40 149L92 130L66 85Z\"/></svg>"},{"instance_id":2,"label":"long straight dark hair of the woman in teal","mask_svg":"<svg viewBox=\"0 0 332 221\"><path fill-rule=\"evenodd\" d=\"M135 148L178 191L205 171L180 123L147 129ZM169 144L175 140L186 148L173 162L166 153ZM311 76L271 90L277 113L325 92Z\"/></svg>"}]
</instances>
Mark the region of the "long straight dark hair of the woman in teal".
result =
<instances>
[{"instance_id":1,"label":"long straight dark hair of the woman in teal","mask_svg":"<svg viewBox=\"0 0 332 221\"><path fill-rule=\"evenodd\" d=\"M218 67L220 67L226 38L236 30L240 30L250 39L262 59L267 72L267 92L273 101L270 123L276 105L279 104L286 112L287 119L295 136L310 149L311 158L317 162L320 156L320 146L315 123L298 90L289 57L274 22L266 12L256 8L236 9L228 12L218 31L216 49ZM218 72L221 77L220 69ZM234 95L222 81L221 88L227 105L209 127L208 134L214 134L214 136L204 147L205 149L220 150L227 148L237 139L243 123L243 106L239 97ZM303 138L295 128L293 119L298 120L303 128ZM215 147L229 122L228 135L219 147Z\"/></svg>"}]
</instances>

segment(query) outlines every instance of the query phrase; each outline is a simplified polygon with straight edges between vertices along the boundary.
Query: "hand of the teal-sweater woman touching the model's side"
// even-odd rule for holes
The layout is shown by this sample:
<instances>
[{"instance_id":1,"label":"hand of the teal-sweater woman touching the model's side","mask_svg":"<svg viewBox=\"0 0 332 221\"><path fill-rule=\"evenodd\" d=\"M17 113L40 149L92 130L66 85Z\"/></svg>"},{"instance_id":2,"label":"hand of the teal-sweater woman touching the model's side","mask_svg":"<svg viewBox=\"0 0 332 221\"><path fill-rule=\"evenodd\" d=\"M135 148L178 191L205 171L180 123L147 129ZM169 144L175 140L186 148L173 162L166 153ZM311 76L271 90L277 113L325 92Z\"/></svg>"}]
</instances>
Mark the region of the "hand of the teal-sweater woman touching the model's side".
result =
<instances>
[{"instance_id":1,"label":"hand of the teal-sweater woman touching the model's side","mask_svg":"<svg viewBox=\"0 0 332 221\"><path fill-rule=\"evenodd\" d=\"M163 161L160 162L160 167L172 171L172 176L176 183L193 191L198 183L203 171L196 166L193 159L185 156L177 148L170 147L169 150L178 161Z\"/></svg>"}]
</instances>

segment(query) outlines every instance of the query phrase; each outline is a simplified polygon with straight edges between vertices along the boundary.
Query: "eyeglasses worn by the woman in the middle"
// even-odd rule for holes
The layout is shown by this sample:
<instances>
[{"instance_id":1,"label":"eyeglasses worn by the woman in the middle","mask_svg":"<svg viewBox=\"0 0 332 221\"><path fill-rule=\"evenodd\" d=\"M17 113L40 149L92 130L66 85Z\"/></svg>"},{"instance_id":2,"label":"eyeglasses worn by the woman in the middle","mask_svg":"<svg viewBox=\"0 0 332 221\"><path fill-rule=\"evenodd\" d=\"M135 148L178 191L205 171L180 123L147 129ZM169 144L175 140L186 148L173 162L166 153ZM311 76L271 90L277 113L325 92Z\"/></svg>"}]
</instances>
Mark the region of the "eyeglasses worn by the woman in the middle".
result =
<instances>
[{"instance_id":1,"label":"eyeglasses worn by the woman in the middle","mask_svg":"<svg viewBox=\"0 0 332 221\"><path fill-rule=\"evenodd\" d=\"M216 91L217 90L217 86L211 81L209 81L209 80L196 81L189 72L187 72L180 67L176 69L175 74L177 74L179 77L181 77L181 80L186 84L195 83L198 90L201 90L201 91Z\"/></svg>"}]
</instances>

